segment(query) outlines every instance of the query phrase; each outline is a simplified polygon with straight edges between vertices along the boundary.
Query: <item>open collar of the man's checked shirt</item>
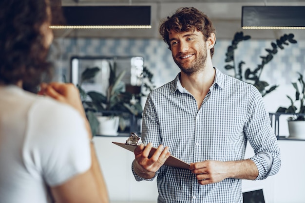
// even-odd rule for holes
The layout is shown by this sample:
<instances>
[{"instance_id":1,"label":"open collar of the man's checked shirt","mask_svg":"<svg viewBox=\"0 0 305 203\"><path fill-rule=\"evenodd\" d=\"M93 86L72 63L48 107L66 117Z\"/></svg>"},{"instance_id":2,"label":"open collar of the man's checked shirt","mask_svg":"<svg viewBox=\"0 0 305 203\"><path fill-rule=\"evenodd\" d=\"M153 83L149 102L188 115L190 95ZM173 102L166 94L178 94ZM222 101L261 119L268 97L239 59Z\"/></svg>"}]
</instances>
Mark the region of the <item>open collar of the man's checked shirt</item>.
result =
<instances>
[{"instance_id":1,"label":"open collar of the man's checked shirt","mask_svg":"<svg viewBox=\"0 0 305 203\"><path fill-rule=\"evenodd\" d=\"M215 78L214 82L211 87L219 86L221 89L224 89L224 74L221 73L217 68L215 68ZM173 84L171 87L172 93L176 92L176 90L179 90L181 93L188 92L184 87L182 87L181 82L180 82L180 73L177 74L176 78L173 80Z\"/></svg>"}]
</instances>

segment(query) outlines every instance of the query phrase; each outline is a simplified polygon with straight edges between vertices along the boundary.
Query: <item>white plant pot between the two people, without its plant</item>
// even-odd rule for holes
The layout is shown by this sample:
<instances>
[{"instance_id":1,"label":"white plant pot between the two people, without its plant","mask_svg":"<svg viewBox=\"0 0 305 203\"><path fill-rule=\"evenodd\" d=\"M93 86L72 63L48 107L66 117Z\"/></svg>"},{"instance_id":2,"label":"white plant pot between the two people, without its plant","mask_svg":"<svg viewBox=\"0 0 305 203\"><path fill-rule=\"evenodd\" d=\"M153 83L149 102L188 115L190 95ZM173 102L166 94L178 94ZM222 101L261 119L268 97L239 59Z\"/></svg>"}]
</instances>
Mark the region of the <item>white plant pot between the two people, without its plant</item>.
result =
<instances>
[{"instance_id":1,"label":"white plant pot between the two people, without its plant","mask_svg":"<svg viewBox=\"0 0 305 203\"><path fill-rule=\"evenodd\" d=\"M119 116L97 116L97 120L99 122L98 134L117 136L119 119Z\"/></svg>"}]
</instances>

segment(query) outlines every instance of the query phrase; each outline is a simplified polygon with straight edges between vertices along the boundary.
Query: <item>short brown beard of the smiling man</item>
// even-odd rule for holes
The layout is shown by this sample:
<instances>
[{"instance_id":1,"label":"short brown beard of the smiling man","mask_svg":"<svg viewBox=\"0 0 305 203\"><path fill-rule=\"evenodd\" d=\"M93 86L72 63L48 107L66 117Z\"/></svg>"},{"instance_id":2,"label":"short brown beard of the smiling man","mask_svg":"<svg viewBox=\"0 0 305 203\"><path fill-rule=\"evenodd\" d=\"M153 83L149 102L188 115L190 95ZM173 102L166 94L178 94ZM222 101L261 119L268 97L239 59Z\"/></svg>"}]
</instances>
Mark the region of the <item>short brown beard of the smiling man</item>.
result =
<instances>
[{"instance_id":1,"label":"short brown beard of the smiling man","mask_svg":"<svg viewBox=\"0 0 305 203\"><path fill-rule=\"evenodd\" d=\"M181 72L187 75L192 75L204 69L207 60L207 50L206 49L200 50L199 52L197 52L196 56L197 58L195 58L188 67L185 67L185 64L189 63L189 61L178 62L175 59L175 57L173 57L173 60L178 65Z\"/></svg>"}]
</instances>

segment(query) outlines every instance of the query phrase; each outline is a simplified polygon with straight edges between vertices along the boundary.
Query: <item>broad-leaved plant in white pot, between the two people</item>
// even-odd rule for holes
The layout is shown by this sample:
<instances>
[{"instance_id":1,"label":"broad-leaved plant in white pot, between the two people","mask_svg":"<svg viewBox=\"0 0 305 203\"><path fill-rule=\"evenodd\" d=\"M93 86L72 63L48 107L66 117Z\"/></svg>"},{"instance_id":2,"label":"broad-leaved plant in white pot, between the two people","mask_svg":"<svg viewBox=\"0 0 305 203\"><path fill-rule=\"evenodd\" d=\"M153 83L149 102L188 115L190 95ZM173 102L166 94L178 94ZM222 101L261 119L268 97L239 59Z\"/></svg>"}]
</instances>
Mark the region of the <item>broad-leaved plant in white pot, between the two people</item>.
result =
<instances>
[{"instance_id":1,"label":"broad-leaved plant in white pot, between the two people","mask_svg":"<svg viewBox=\"0 0 305 203\"><path fill-rule=\"evenodd\" d=\"M109 61L109 69L110 74L106 94L96 91L85 92L81 88L84 81L93 79L99 73L100 69L98 67L86 68L81 74L80 83L77 85L93 135L97 133L117 135L118 125L120 129L126 127L123 114L131 113L136 117L142 117L143 109L139 102L139 97L143 94L135 95L125 91L125 84L122 82L125 71L120 72L116 76L115 61ZM149 77L149 81L151 81L152 74L147 73L150 72L144 68L143 77ZM145 86L146 83L143 82L143 85ZM108 121L113 122L113 124L108 124ZM101 129L105 129L103 128L104 124L107 130L106 132L101 132ZM111 126L113 126L113 130L110 130Z\"/></svg>"}]
</instances>

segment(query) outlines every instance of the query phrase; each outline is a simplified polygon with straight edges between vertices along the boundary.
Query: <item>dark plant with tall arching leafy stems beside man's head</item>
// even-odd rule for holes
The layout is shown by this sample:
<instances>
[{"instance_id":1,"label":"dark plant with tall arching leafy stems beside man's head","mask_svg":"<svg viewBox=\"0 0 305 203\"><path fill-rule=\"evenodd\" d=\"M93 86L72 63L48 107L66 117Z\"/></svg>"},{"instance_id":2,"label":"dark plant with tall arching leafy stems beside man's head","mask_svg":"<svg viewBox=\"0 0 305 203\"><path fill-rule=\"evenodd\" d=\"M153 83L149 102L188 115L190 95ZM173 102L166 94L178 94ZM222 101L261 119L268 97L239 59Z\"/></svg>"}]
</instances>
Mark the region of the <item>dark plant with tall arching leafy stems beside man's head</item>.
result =
<instances>
[{"instance_id":1,"label":"dark plant with tall arching leafy stems beside man's head","mask_svg":"<svg viewBox=\"0 0 305 203\"><path fill-rule=\"evenodd\" d=\"M248 40L251 37L248 35L244 36L243 32L237 32L234 35L231 45L228 46L225 62L230 63L230 64L227 64L225 66L225 69L226 70L233 69L235 78L254 85L258 89L258 91L261 93L261 95L265 96L267 93L274 91L278 86L273 85L268 90L266 90L266 88L267 88L267 86L269 86L269 84L266 81L260 80L260 76L262 74L263 68L268 62L270 62L272 60L273 55L275 55L278 52L278 48L284 49L283 45L289 45L288 42L293 43L293 44L297 43L297 41L295 39L293 39L293 37L294 37L293 34L289 34L289 35L285 34L284 36L277 39L276 43L271 42L272 49L265 49L268 54L266 56L260 56L262 59L261 64L258 64L257 67L253 71L251 71L249 68L247 68L246 71L244 72L244 77L243 77L243 65L245 64L245 62L240 61L238 64L235 64L234 50L237 49L237 45L239 42ZM231 63L233 63L233 64L231 64Z\"/></svg>"}]
</instances>

